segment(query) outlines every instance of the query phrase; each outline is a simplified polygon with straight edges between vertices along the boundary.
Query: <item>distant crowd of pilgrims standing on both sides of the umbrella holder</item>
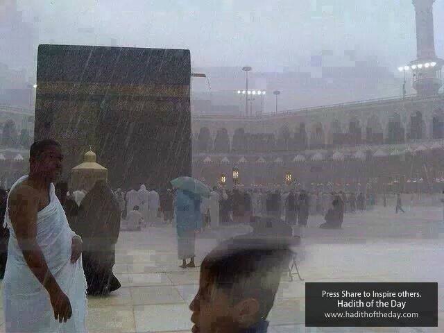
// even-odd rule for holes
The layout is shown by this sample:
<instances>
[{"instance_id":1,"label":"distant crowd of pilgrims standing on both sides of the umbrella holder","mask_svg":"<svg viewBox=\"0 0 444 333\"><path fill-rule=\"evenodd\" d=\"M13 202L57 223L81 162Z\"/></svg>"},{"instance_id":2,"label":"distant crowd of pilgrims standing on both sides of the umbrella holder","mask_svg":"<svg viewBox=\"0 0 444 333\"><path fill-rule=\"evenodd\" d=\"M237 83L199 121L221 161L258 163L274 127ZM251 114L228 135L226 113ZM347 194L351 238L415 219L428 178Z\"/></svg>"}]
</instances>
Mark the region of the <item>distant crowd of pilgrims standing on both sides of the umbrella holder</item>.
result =
<instances>
[{"instance_id":1,"label":"distant crowd of pilgrims standing on both sides of the umbrella holder","mask_svg":"<svg viewBox=\"0 0 444 333\"><path fill-rule=\"evenodd\" d=\"M162 220L173 221L176 195L172 189L158 193L142 185L138 190L117 189L114 195L126 230L141 230ZM325 223L321 228L341 228L344 213L370 210L374 205L376 195L371 192L364 195L343 191L213 187L209 198L201 198L200 212L204 225L212 227L248 223L250 216L272 216L306 226L309 216L323 215Z\"/></svg>"}]
</instances>

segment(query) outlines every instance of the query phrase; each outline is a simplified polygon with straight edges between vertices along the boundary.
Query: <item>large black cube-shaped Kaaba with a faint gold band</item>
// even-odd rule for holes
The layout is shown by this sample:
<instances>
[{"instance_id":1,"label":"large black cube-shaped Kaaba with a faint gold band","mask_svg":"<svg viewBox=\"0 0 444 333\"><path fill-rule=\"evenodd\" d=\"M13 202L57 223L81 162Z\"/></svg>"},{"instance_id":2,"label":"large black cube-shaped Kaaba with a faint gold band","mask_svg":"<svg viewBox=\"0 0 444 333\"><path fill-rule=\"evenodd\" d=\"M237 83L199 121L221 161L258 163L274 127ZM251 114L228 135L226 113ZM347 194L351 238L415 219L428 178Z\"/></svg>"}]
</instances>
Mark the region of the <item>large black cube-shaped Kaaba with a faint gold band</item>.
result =
<instances>
[{"instance_id":1,"label":"large black cube-shaped Kaaba with a faint gold band","mask_svg":"<svg viewBox=\"0 0 444 333\"><path fill-rule=\"evenodd\" d=\"M35 139L56 139L63 178L89 147L114 188L191 176L189 50L41 44Z\"/></svg>"}]
</instances>

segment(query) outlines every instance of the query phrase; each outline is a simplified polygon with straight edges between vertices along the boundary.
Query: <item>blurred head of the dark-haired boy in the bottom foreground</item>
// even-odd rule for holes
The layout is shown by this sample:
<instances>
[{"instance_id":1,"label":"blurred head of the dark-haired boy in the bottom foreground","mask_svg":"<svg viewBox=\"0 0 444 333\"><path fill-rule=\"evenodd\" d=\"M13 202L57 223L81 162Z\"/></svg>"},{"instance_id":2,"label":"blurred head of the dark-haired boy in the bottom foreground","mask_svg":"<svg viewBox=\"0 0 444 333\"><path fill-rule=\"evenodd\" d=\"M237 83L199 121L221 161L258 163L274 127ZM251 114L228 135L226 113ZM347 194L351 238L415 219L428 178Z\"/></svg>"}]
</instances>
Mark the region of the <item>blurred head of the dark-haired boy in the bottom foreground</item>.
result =
<instances>
[{"instance_id":1,"label":"blurred head of the dark-haired boy in the bottom foreground","mask_svg":"<svg viewBox=\"0 0 444 333\"><path fill-rule=\"evenodd\" d=\"M290 258L284 242L233 238L219 244L203 260L199 290L189 305L193 333L237 333L266 325Z\"/></svg>"}]
</instances>

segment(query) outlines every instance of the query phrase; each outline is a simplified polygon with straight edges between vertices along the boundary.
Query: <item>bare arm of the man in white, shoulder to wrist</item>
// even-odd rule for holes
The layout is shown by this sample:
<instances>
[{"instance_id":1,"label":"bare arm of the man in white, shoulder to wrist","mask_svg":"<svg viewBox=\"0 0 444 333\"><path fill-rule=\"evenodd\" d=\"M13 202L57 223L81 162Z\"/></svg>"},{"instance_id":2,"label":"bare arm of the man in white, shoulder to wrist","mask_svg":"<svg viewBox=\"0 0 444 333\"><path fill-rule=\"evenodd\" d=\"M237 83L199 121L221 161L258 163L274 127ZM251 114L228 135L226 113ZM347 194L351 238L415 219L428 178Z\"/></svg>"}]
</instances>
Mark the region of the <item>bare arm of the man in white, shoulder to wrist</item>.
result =
<instances>
[{"instance_id":1,"label":"bare arm of the man in white, shoulder to wrist","mask_svg":"<svg viewBox=\"0 0 444 333\"><path fill-rule=\"evenodd\" d=\"M49 294L61 291L56 279L49 271L48 264L37 244L37 212L39 198L37 191L27 185L21 185L12 191L9 198L8 212L12 228L17 236L26 264Z\"/></svg>"}]
</instances>

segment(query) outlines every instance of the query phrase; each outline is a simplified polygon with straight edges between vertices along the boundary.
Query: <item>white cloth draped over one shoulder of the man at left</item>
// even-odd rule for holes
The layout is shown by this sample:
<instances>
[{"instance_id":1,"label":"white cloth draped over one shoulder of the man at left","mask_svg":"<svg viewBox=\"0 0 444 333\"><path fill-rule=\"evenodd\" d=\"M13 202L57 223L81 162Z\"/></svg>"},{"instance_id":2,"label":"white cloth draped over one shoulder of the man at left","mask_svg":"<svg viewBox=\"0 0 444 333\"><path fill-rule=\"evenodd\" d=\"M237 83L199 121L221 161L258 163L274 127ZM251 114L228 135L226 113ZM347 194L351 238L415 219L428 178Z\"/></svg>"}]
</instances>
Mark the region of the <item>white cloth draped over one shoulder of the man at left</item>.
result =
<instances>
[{"instance_id":1,"label":"white cloth draped over one shoulder of the man at left","mask_svg":"<svg viewBox=\"0 0 444 333\"><path fill-rule=\"evenodd\" d=\"M24 176L12 186L26 180ZM50 203L37 213L37 244L42 249L48 268L71 303L72 316L66 323L54 318L49 294L37 280L24 259L12 228L8 212L5 225L10 230L8 262L3 278L3 311L5 331L9 332L87 332L87 282L82 257L71 264L71 241L75 233L69 228L67 217L50 187Z\"/></svg>"}]
</instances>

